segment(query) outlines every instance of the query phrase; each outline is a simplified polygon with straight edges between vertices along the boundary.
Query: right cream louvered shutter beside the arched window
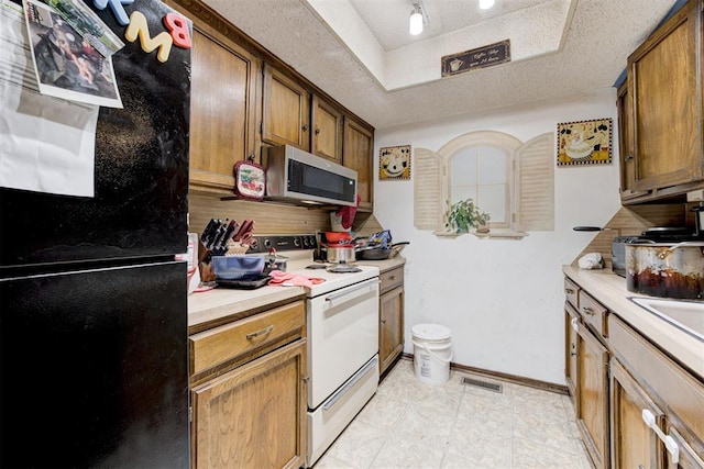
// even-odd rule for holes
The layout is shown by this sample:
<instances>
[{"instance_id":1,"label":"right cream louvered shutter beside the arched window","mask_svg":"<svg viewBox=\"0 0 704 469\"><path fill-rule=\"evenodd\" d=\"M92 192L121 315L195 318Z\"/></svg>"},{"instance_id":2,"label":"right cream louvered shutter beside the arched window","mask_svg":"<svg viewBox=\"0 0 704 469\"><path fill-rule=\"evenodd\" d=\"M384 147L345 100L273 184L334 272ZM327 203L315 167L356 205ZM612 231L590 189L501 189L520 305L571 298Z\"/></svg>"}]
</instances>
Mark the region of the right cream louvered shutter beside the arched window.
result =
<instances>
[{"instance_id":1,"label":"right cream louvered shutter beside the arched window","mask_svg":"<svg viewBox=\"0 0 704 469\"><path fill-rule=\"evenodd\" d=\"M516 152L516 228L554 231L554 134L539 135Z\"/></svg>"}]
</instances>

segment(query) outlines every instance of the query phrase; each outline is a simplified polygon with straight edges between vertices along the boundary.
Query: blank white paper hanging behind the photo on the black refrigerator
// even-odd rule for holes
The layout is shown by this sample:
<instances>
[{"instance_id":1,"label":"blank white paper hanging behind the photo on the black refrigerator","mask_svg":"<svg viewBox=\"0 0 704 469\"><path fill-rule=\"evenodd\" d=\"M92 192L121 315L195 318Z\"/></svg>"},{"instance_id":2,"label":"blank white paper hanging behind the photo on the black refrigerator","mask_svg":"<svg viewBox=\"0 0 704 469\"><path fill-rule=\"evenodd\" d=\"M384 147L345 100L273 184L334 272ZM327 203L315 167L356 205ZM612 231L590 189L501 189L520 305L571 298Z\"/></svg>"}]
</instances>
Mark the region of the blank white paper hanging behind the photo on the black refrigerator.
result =
<instances>
[{"instance_id":1,"label":"blank white paper hanging behind the photo on the black refrigerator","mask_svg":"<svg viewBox=\"0 0 704 469\"><path fill-rule=\"evenodd\" d=\"M99 107L38 91L22 8L0 0L0 187L94 197Z\"/></svg>"}]
</instances>

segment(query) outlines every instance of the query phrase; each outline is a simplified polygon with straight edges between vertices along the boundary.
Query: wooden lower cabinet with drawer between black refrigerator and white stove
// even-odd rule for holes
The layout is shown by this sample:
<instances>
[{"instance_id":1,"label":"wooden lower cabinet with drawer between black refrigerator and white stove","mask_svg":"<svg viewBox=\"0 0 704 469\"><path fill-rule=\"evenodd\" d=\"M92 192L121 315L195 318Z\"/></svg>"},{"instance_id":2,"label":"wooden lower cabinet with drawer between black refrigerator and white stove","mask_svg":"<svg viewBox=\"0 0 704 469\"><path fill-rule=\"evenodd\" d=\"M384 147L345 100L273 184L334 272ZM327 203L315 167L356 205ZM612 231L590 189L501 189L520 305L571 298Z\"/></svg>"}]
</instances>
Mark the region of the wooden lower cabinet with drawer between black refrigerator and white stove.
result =
<instances>
[{"instance_id":1,"label":"wooden lower cabinet with drawer between black refrigerator and white stove","mask_svg":"<svg viewBox=\"0 0 704 469\"><path fill-rule=\"evenodd\" d=\"M305 464L305 314L297 301L189 336L193 468Z\"/></svg>"}]
</instances>

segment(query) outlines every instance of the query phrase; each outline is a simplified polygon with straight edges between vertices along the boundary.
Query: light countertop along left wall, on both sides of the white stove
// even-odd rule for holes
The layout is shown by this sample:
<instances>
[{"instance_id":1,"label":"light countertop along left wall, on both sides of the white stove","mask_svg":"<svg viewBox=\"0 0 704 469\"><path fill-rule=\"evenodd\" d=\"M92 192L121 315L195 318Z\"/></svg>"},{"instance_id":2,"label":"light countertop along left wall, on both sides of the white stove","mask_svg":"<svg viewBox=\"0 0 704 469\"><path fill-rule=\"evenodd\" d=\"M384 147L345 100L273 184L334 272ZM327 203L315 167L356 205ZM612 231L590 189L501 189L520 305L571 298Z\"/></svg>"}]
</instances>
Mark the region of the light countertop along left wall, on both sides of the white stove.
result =
<instances>
[{"instance_id":1,"label":"light countertop along left wall, on both sides of the white stove","mask_svg":"<svg viewBox=\"0 0 704 469\"><path fill-rule=\"evenodd\" d=\"M406 259L396 256L385 260L358 260L361 266L378 267L385 272L406 264ZM188 295L189 334L237 321L279 304L305 299L302 287L262 287L256 290L237 290L216 288L213 290L190 293Z\"/></svg>"}]
</instances>

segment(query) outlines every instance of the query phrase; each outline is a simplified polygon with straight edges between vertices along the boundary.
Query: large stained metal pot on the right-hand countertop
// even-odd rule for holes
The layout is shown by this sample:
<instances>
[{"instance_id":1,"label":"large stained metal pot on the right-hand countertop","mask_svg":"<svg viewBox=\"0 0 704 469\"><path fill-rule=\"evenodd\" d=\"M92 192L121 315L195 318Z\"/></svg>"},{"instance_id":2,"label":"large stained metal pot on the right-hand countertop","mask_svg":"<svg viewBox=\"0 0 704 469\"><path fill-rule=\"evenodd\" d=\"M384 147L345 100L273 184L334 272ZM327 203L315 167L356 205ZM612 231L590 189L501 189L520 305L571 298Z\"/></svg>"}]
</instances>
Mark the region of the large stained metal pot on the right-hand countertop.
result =
<instances>
[{"instance_id":1,"label":"large stained metal pot on the right-hand countertop","mask_svg":"<svg viewBox=\"0 0 704 469\"><path fill-rule=\"evenodd\" d=\"M626 288L651 297L704 299L704 242L627 244Z\"/></svg>"}]
</instances>

